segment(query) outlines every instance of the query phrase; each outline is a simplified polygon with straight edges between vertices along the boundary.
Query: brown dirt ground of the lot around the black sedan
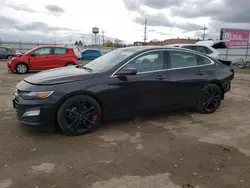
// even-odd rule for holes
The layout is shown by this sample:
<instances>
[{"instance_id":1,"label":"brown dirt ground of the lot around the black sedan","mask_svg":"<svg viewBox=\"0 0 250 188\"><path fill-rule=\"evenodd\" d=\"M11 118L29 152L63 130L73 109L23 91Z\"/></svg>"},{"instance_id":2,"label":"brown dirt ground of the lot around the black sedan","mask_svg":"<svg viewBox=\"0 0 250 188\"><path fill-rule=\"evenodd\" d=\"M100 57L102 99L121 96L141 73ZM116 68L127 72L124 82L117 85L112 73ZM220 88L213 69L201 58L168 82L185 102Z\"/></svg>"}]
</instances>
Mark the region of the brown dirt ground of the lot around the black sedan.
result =
<instances>
[{"instance_id":1,"label":"brown dirt ground of the lot around the black sedan","mask_svg":"<svg viewBox=\"0 0 250 188\"><path fill-rule=\"evenodd\" d=\"M112 121L79 137L17 123L23 77L0 61L0 188L250 187L250 71L237 71L214 114Z\"/></svg>"}]
</instances>

